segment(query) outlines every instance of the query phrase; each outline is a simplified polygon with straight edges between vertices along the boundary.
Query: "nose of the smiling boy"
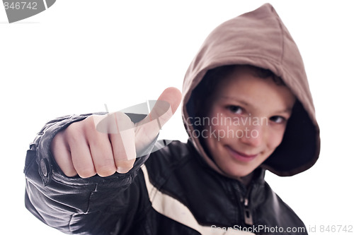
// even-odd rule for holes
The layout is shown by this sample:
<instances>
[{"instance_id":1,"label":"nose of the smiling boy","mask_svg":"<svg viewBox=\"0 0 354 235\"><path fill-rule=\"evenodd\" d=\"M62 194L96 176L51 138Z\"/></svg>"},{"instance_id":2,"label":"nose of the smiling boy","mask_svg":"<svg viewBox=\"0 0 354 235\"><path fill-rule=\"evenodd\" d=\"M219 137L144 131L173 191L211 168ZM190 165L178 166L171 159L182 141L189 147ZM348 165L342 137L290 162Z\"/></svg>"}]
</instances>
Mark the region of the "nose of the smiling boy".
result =
<instances>
[{"instance_id":1,"label":"nose of the smiling boy","mask_svg":"<svg viewBox=\"0 0 354 235\"><path fill-rule=\"evenodd\" d=\"M265 126L263 125L247 125L244 126L243 135L239 140L245 145L258 147L263 144L265 132Z\"/></svg>"}]
</instances>

